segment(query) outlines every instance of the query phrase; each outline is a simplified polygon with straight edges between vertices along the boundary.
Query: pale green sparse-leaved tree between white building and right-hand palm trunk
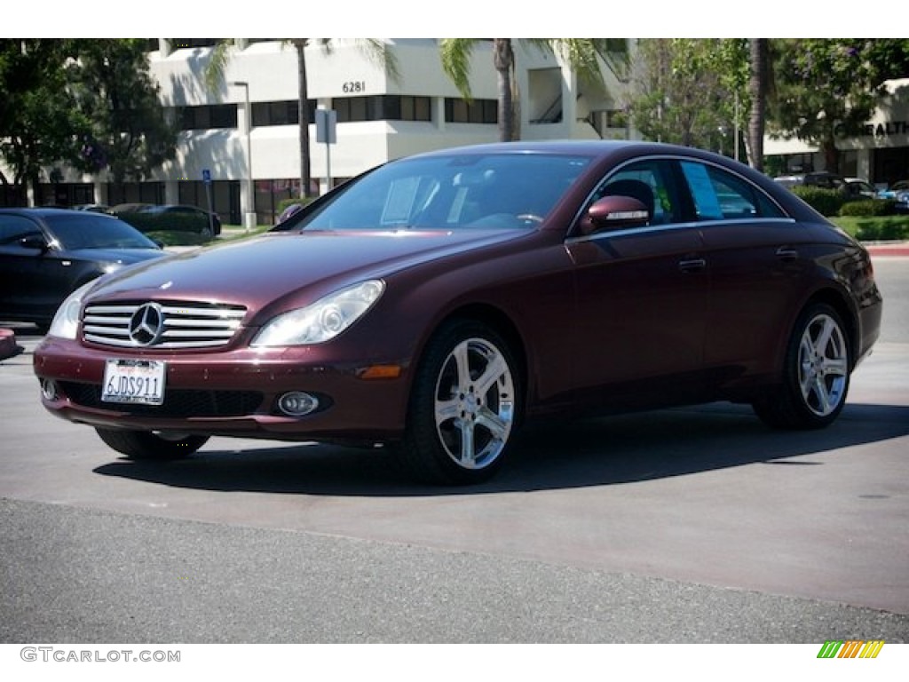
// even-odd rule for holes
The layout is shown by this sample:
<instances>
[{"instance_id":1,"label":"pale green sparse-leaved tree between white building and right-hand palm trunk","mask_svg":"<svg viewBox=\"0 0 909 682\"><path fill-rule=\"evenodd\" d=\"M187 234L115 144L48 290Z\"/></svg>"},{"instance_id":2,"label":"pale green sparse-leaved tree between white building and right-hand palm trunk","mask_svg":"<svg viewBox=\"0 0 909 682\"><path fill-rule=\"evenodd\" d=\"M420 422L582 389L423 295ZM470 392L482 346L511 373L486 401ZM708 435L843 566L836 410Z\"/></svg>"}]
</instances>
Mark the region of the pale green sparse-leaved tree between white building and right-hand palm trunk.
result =
<instances>
[{"instance_id":1,"label":"pale green sparse-leaved tree between white building and right-hand palm trunk","mask_svg":"<svg viewBox=\"0 0 909 682\"><path fill-rule=\"evenodd\" d=\"M626 102L644 137L732 152L750 99L742 39L638 43Z\"/></svg>"}]
</instances>

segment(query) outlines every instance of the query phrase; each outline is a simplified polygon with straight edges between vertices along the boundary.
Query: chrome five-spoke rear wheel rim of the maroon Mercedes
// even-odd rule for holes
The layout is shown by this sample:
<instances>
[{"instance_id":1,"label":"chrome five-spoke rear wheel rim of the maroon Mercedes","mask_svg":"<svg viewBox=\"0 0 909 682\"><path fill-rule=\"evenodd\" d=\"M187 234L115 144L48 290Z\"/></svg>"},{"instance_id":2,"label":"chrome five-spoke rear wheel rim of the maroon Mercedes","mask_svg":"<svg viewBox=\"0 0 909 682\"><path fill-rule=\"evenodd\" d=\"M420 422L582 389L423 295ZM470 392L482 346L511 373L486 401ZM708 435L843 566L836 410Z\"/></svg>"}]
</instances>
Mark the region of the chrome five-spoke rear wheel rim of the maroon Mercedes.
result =
<instances>
[{"instance_id":1,"label":"chrome five-spoke rear wheel rim of the maroon Mercedes","mask_svg":"<svg viewBox=\"0 0 909 682\"><path fill-rule=\"evenodd\" d=\"M798 372L804 404L815 415L827 416L840 406L848 386L849 351L833 317L820 314L805 326Z\"/></svg>"}]
</instances>

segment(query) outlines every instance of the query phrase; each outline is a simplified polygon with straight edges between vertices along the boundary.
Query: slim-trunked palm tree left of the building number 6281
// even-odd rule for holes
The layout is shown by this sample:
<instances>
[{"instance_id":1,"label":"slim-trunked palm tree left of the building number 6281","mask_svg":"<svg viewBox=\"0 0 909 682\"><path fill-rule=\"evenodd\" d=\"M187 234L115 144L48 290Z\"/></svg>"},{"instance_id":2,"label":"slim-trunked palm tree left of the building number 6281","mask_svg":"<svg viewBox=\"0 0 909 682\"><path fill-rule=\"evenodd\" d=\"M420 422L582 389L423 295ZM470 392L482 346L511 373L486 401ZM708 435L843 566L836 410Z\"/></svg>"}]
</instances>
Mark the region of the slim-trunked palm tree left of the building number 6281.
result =
<instances>
[{"instance_id":1,"label":"slim-trunked palm tree left of the building number 6281","mask_svg":"<svg viewBox=\"0 0 909 682\"><path fill-rule=\"evenodd\" d=\"M309 112L309 86L306 81L306 48L316 45L325 50L332 51L332 38L282 38L284 45L291 45L296 52L296 78L297 78L297 111L300 139L300 198L312 196L312 166L310 164L309 125L313 123ZM224 83L225 68L230 59L231 39L221 39L212 51L211 59L205 68L205 85L212 91L217 91ZM399 71L395 55L388 51L387 45L376 38L365 38L358 41L358 45L376 64L382 65L385 72L394 80L399 78ZM249 115L247 113L247 115Z\"/></svg>"}]
</instances>

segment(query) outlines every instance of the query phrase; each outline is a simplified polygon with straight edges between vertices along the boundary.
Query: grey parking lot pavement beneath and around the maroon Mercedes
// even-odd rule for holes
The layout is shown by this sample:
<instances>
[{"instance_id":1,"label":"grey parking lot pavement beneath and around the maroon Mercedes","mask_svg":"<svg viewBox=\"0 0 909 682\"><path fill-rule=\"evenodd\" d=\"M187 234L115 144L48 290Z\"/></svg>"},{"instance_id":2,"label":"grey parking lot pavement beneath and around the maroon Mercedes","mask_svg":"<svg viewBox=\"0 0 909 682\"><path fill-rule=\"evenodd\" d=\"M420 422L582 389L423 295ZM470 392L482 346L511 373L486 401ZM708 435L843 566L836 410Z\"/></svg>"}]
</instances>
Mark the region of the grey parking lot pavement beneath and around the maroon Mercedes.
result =
<instances>
[{"instance_id":1,"label":"grey parking lot pavement beneath and around the maroon Mercedes","mask_svg":"<svg viewBox=\"0 0 909 682\"><path fill-rule=\"evenodd\" d=\"M165 466L0 362L0 641L909 641L909 259L831 428L717 405L540 426L484 486L213 439ZM3 326L3 325L0 325Z\"/></svg>"}]
</instances>

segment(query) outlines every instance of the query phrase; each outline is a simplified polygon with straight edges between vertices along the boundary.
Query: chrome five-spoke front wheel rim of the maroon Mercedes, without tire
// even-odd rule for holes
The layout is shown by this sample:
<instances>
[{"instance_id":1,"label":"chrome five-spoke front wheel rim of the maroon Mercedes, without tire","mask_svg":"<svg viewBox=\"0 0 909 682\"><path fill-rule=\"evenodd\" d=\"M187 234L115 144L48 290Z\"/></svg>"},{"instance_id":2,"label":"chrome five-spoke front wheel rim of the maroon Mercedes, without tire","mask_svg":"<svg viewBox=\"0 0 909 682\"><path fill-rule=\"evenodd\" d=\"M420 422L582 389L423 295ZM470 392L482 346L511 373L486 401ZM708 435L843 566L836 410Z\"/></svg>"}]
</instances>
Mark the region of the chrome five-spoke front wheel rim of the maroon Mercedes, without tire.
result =
<instances>
[{"instance_id":1,"label":"chrome five-spoke front wheel rim of the maroon Mercedes, without tire","mask_svg":"<svg viewBox=\"0 0 909 682\"><path fill-rule=\"evenodd\" d=\"M502 453L514 426L514 378L499 348L468 338L445 358L435 385L435 428L457 466L482 469Z\"/></svg>"}]
</instances>

